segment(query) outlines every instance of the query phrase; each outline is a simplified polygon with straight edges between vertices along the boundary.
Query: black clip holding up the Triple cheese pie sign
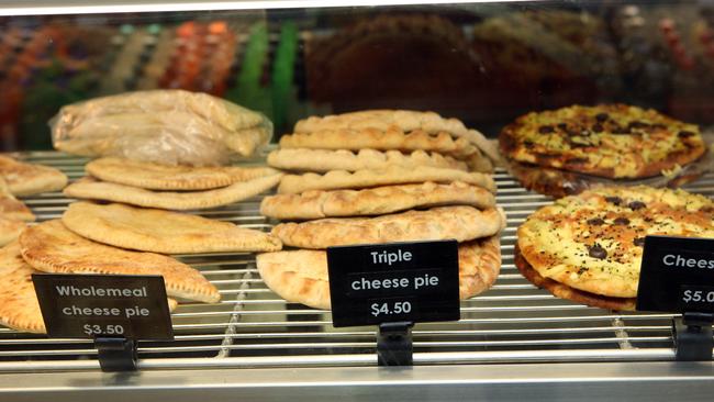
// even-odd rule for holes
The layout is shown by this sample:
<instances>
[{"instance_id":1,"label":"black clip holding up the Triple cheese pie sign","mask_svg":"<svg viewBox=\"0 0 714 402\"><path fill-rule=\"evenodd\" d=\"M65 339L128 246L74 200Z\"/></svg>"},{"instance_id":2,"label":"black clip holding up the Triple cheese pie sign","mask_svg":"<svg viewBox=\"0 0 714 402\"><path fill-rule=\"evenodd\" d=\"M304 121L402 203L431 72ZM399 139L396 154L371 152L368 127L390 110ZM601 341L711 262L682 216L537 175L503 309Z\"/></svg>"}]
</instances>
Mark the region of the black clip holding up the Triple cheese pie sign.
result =
<instances>
[{"instance_id":1,"label":"black clip holding up the Triple cheese pie sign","mask_svg":"<svg viewBox=\"0 0 714 402\"><path fill-rule=\"evenodd\" d=\"M412 366L412 322L379 324L377 362L379 366Z\"/></svg>"}]
</instances>

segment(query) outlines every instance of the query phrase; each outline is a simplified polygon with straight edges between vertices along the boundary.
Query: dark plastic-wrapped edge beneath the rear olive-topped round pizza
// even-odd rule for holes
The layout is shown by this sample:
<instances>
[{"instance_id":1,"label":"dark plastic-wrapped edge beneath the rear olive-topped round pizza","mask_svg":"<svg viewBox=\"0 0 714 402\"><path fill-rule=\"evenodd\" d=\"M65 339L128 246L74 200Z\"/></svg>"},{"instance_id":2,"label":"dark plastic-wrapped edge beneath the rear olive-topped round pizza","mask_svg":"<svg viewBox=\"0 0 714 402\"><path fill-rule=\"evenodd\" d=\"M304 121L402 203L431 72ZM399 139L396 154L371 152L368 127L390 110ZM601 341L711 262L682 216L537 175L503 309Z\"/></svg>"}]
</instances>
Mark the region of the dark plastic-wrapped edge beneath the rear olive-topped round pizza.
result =
<instances>
[{"instance_id":1,"label":"dark plastic-wrapped edge beneath the rear olive-topped round pizza","mask_svg":"<svg viewBox=\"0 0 714 402\"><path fill-rule=\"evenodd\" d=\"M714 133L703 133L704 141L712 144ZM528 190L554 198L577 194L598 186L638 186L650 187L680 187L714 168L714 148L710 145L709 152L691 164L679 169L673 169L666 175L642 179L607 179L576 171L546 168L514 160L505 160L505 167L523 187Z\"/></svg>"}]
</instances>

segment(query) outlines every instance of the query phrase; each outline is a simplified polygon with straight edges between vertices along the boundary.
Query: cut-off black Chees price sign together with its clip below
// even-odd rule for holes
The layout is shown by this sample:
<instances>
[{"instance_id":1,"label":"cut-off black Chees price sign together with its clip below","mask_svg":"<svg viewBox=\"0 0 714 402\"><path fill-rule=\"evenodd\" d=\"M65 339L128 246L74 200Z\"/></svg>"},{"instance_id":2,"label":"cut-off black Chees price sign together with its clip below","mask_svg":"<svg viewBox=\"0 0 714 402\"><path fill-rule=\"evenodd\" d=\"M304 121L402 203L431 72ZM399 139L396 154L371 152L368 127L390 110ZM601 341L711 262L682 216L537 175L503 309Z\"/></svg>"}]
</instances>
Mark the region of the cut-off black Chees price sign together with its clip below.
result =
<instances>
[{"instance_id":1,"label":"cut-off black Chees price sign together with its clip below","mask_svg":"<svg viewBox=\"0 0 714 402\"><path fill-rule=\"evenodd\" d=\"M674 359L712 360L714 301L683 300L685 292L714 290L714 239L647 236L637 289L637 310L681 313L672 319Z\"/></svg>"}]
</instances>

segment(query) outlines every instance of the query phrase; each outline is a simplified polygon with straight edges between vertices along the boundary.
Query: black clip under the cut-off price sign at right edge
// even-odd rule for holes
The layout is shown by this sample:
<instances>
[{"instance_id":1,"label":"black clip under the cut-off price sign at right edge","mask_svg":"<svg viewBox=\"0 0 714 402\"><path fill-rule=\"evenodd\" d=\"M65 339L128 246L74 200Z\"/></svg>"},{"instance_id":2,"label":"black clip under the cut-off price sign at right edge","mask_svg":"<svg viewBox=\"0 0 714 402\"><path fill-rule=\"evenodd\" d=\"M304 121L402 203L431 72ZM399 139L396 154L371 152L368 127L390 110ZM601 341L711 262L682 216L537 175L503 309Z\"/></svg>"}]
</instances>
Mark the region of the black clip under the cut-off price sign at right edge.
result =
<instances>
[{"instance_id":1,"label":"black clip under the cut-off price sign at right edge","mask_svg":"<svg viewBox=\"0 0 714 402\"><path fill-rule=\"evenodd\" d=\"M714 314L684 312L672 319L674 357L680 361L702 361L712 359L712 323Z\"/></svg>"}]
</instances>

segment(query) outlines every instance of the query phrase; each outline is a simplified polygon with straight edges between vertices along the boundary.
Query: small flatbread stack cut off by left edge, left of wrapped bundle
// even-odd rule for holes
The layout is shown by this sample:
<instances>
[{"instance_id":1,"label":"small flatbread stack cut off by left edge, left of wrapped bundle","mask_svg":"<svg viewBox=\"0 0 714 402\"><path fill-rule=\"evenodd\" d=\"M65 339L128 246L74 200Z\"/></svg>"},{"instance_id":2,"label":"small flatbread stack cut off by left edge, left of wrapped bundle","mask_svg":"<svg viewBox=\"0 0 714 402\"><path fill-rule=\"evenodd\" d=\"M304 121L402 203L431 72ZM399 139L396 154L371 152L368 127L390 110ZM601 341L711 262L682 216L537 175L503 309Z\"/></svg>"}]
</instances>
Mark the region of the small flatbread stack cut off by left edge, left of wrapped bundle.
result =
<instances>
[{"instance_id":1,"label":"small flatbread stack cut off by left edge, left of wrapped bundle","mask_svg":"<svg viewBox=\"0 0 714 402\"><path fill-rule=\"evenodd\" d=\"M67 176L41 165L31 165L0 155L0 246L18 238L26 222L35 220L24 202L16 197L62 190Z\"/></svg>"}]
</instances>

